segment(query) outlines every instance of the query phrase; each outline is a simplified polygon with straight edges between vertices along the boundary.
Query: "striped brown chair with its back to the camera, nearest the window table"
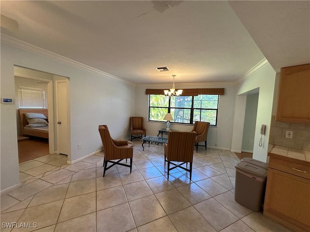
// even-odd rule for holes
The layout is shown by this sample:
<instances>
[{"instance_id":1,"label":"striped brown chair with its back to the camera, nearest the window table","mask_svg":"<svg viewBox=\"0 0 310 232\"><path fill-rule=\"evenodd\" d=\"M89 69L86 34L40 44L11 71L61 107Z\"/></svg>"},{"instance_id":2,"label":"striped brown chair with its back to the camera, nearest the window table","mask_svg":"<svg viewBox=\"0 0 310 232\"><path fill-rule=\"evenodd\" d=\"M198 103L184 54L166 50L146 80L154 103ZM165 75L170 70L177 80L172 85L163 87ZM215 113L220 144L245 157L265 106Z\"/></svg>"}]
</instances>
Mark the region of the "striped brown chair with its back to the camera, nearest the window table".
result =
<instances>
[{"instance_id":1,"label":"striped brown chair with its back to the camera, nearest the window table","mask_svg":"<svg viewBox=\"0 0 310 232\"><path fill-rule=\"evenodd\" d=\"M192 178L192 163L196 132L169 131L168 144L165 144L165 166L168 163L169 172L177 167L189 172L189 179ZM175 163L181 162L181 163ZM182 167L186 163L186 168ZM189 163L189 169L187 169ZM173 165L170 168L170 164Z\"/></svg>"}]
</instances>

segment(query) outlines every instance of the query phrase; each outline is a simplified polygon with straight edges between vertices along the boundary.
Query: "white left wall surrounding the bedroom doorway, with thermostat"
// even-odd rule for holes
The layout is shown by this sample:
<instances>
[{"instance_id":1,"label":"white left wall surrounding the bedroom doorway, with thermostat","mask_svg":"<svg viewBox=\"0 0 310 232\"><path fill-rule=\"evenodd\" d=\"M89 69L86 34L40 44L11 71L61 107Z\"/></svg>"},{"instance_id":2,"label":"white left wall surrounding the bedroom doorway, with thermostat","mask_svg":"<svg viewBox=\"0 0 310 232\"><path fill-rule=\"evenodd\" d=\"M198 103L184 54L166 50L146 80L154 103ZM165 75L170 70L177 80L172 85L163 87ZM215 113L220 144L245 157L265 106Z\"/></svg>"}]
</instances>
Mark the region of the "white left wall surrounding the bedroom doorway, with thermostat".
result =
<instances>
[{"instance_id":1,"label":"white left wall surrounding the bedroom doorway, with thermostat","mask_svg":"<svg viewBox=\"0 0 310 232\"><path fill-rule=\"evenodd\" d=\"M15 98L14 65L70 78L70 161L102 148L99 124L107 124L114 138L129 138L134 85L1 43L0 97ZM19 183L16 105L0 104L0 131L1 189L5 189Z\"/></svg>"}]
</instances>

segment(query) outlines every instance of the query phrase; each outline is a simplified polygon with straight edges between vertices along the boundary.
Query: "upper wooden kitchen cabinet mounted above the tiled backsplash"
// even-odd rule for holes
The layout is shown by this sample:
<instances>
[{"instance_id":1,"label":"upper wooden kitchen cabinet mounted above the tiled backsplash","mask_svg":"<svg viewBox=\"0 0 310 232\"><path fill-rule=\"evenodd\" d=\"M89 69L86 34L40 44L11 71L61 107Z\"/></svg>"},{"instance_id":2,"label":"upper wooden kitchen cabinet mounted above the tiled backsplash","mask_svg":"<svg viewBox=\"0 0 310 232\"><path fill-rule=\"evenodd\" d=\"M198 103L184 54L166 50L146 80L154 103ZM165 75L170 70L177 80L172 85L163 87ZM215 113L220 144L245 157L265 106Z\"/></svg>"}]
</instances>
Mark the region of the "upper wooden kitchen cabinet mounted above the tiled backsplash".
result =
<instances>
[{"instance_id":1,"label":"upper wooden kitchen cabinet mounted above the tiled backsplash","mask_svg":"<svg viewBox=\"0 0 310 232\"><path fill-rule=\"evenodd\" d=\"M281 68L276 121L310 123L310 64Z\"/></svg>"}]
</instances>

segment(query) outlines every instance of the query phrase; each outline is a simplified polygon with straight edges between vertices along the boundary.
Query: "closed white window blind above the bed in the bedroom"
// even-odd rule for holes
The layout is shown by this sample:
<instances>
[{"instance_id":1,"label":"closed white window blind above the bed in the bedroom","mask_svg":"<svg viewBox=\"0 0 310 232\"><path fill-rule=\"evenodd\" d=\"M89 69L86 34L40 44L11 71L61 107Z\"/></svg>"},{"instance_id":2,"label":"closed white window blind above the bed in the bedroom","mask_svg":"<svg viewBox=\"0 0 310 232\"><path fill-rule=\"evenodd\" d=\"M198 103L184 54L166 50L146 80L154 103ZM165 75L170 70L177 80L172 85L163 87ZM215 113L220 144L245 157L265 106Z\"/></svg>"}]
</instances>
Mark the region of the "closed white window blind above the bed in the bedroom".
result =
<instances>
[{"instance_id":1,"label":"closed white window blind above the bed in the bedroom","mask_svg":"<svg viewBox=\"0 0 310 232\"><path fill-rule=\"evenodd\" d=\"M19 108L45 108L45 90L17 87Z\"/></svg>"}]
</instances>

